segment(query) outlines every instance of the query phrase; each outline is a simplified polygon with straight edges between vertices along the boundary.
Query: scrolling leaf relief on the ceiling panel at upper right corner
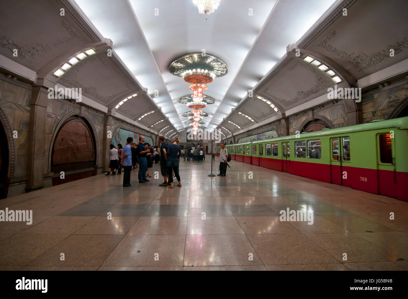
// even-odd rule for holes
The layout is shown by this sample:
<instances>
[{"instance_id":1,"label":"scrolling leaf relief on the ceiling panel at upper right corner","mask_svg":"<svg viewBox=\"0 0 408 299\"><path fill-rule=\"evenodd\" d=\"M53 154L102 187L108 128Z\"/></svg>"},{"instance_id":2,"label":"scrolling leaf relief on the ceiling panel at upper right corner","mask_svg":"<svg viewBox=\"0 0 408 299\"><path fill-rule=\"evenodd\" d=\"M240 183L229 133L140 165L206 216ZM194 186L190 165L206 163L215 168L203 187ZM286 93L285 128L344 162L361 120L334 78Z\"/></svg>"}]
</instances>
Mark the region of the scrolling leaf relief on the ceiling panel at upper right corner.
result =
<instances>
[{"instance_id":1,"label":"scrolling leaf relief on the ceiling panel at upper right corner","mask_svg":"<svg viewBox=\"0 0 408 299\"><path fill-rule=\"evenodd\" d=\"M402 48L408 46L408 38L404 38L403 40L397 42L395 45L388 46L386 50L381 50L371 55L367 55L365 53L355 54L355 52L348 54L345 51L339 50L328 44L330 39L335 35L336 32L335 30L333 30L328 35L326 35L326 37L323 38L318 44L316 44L316 47L322 47L329 52L335 53L341 59L350 63L355 69L357 69L357 71L368 69L370 66L383 61L385 58L389 58L391 49L394 50L394 54L398 54L402 52Z\"/></svg>"}]
</instances>

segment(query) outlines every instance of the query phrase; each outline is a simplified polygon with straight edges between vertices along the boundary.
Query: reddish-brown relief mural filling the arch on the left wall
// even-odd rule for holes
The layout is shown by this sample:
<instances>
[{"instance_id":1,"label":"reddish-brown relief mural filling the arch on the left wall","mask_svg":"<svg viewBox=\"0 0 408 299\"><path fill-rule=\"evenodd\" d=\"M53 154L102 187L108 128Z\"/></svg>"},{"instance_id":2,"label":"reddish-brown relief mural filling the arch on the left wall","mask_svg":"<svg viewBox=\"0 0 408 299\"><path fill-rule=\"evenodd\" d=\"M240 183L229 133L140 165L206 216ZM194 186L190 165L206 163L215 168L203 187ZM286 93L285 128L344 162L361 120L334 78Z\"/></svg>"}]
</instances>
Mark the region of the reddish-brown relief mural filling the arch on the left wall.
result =
<instances>
[{"instance_id":1,"label":"reddish-brown relief mural filling the arch on the left wall","mask_svg":"<svg viewBox=\"0 0 408 299\"><path fill-rule=\"evenodd\" d=\"M70 120L55 137L53 165L95 160L95 145L89 128L80 120Z\"/></svg>"}]
</instances>

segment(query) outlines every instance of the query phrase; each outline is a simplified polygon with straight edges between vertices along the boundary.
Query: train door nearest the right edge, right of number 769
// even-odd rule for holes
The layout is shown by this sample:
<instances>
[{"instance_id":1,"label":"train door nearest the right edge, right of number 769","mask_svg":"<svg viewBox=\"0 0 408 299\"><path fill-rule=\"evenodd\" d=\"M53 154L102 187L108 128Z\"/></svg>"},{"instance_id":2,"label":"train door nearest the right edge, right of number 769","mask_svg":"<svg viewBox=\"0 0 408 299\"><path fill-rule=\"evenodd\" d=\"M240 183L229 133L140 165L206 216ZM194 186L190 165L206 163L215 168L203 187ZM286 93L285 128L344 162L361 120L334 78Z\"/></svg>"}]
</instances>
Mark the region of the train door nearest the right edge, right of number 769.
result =
<instances>
[{"instance_id":1,"label":"train door nearest the right edge, right of number 769","mask_svg":"<svg viewBox=\"0 0 408 299\"><path fill-rule=\"evenodd\" d=\"M391 138L390 133L377 135L377 169L379 194L397 198L395 138Z\"/></svg>"}]
</instances>

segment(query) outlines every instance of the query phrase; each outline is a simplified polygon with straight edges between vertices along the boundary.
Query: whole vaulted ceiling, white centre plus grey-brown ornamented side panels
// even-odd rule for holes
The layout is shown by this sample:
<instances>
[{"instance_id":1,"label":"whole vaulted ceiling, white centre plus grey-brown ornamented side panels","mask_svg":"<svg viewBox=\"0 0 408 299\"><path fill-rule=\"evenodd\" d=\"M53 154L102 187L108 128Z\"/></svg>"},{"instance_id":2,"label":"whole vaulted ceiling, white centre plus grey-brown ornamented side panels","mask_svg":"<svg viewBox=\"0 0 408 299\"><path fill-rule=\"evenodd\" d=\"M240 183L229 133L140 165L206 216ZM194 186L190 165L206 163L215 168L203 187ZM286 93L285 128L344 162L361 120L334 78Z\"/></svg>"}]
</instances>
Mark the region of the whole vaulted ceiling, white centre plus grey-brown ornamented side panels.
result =
<instances>
[{"instance_id":1,"label":"whole vaulted ceiling, white centre plus grey-brown ornamented side panels","mask_svg":"<svg viewBox=\"0 0 408 299\"><path fill-rule=\"evenodd\" d=\"M0 11L0 55L38 78L82 87L92 105L124 120L156 132L183 132L190 109L179 100L191 91L169 64L205 51L223 60L228 73L204 92L215 103L203 109L208 117L202 128L230 134L310 108L335 84L329 70L339 86L354 86L406 60L406 0L387 3L222 0L206 18L191 0L11 1ZM89 48L96 53L53 75Z\"/></svg>"}]
</instances>

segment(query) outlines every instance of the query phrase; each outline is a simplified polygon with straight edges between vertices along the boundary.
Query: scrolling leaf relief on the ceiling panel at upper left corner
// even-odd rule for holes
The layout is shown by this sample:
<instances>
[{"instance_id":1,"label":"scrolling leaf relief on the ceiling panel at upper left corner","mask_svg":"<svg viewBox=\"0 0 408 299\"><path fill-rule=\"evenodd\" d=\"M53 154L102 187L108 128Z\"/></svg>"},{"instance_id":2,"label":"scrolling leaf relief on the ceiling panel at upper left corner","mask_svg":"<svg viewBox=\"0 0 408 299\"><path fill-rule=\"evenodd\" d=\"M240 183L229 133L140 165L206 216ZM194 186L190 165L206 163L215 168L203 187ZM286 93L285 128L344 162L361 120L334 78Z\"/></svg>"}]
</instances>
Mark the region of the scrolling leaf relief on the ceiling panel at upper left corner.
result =
<instances>
[{"instance_id":1,"label":"scrolling leaf relief on the ceiling panel at upper left corner","mask_svg":"<svg viewBox=\"0 0 408 299\"><path fill-rule=\"evenodd\" d=\"M40 43L36 45L27 44L25 46L21 46L17 42L7 39L5 35L0 36L0 44L2 45L3 48L10 49L10 51L13 53L15 49L18 49L18 55L17 55L18 58L25 60L29 63L33 63L33 60L37 60L38 58L40 58L42 54L47 53L48 51L51 51L55 47L58 47L60 44L69 42L70 40L74 38L81 37L79 33L75 32L75 30L69 26L67 21L62 20L62 26L67 29L67 31L69 32L69 36L60 38L56 42L46 44L45 46L43 46Z\"/></svg>"}]
</instances>

